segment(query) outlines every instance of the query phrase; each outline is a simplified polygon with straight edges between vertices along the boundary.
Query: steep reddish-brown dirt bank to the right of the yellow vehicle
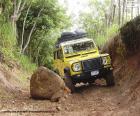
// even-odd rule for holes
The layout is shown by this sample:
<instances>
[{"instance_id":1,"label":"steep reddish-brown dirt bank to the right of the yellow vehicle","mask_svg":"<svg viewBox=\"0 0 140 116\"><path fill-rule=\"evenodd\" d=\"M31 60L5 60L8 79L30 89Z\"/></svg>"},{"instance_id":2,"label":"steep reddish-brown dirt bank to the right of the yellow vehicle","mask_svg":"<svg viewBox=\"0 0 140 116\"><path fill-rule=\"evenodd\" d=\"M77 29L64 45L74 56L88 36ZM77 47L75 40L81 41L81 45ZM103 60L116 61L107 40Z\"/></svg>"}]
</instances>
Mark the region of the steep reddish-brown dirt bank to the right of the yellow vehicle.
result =
<instances>
[{"instance_id":1,"label":"steep reddish-brown dirt bank to the right of the yellow vehicle","mask_svg":"<svg viewBox=\"0 0 140 116\"><path fill-rule=\"evenodd\" d=\"M126 23L120 33L107 42L103 52L112 58L116 83L121 91L121 106L140 109L140 17Z\"/></svg>"}]
</instances>

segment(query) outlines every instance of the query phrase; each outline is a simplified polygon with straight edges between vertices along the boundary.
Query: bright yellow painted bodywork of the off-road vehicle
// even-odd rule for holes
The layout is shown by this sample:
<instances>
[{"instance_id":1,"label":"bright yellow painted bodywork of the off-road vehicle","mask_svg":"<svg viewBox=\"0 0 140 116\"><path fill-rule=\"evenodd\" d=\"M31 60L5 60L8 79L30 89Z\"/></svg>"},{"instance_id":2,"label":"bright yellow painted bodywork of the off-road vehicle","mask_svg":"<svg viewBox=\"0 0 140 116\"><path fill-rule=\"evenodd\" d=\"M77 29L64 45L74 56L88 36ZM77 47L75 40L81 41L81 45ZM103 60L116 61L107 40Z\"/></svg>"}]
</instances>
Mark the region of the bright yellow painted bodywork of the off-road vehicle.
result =
<instances>
[{"instance_id":1,"label":"bright yellow painted bodywork of the off-road vehicle","mask_svg":"<svg viewBox=\"0 0 140 116\"><path fill-rule=\"evenodd\" d=\"M69 44L69 42L65 42L66 44ZM104 66L104 68L111 67L111 59L109 54L100 54L98 48L95 46L94 49L89 50L89 51L81 51L78 53L73 53L73 54L64 54L64 49L63 46L60 46L59 49L56 49L55 52L57 51L62 51L63 57L61 59L54 59L54 67L55 69L58 70L60 76L64 76L64 68L69 68L70 69L70 74L71 76L73 75L78 75L82 73L82 71L79 72L74 72L72 70L72 65L73 63L80 62L83 60L88 60L88 59L94 59L98 57L106 57L107 58L107 64Z\"/></svg>"}]
</instances>

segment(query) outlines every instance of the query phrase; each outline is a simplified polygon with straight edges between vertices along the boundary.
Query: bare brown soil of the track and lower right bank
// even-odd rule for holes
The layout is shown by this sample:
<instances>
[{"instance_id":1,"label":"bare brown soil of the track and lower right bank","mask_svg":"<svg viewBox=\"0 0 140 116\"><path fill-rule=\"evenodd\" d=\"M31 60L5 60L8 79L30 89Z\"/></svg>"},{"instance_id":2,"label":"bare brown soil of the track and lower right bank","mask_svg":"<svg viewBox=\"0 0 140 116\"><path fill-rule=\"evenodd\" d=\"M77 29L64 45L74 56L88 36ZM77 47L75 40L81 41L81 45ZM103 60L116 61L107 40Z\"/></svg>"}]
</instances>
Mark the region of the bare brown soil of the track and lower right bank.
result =
<instances>
[{"instance_id":1,"label":"bare brown soil of the track and lower right bank","mask_svg":"<svg viewBox=\"0 0 140 116\"><path fill-rule=\"evenodd\" d=\"M140 54L125 60L116 59L113 67L114 87L104 86L104 80L92 85L81 84L76 93L59 102L33 100L29 88L19 92L13 91L15 85L6 86L14 97L1 97L0 116L139 116ZM29 80L27 82L29 84Z\"/></svg>"}]
</instances>

